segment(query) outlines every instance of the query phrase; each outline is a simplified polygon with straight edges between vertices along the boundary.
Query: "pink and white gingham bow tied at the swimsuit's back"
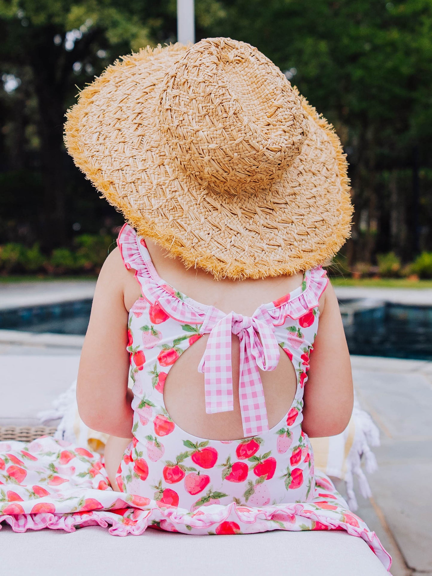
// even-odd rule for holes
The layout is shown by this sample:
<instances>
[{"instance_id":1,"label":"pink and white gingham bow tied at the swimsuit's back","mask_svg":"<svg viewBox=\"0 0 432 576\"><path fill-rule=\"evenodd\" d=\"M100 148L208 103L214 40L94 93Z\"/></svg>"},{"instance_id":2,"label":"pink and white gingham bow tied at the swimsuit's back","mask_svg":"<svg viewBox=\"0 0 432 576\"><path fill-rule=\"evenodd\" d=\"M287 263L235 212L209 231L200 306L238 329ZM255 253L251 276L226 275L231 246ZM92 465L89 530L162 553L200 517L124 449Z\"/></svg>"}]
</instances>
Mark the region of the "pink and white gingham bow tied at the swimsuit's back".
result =
<instances>
[{"instance_id":1,"label":"pink and white gingham bow tied at the swimsuit's back","mask_svg":"<svg viewBox=\"0 0 432 576\"><path fill-rule=\"evenodd\" d=\"M206 412L234 410L231 334L240 340L238 396L245 436L268 430L263 382L258 370L274 370L279 361L279 344L274 326L254 317L230 312L211 328L198 372L204 374ZM260 338L261 340L260 340Z\"/></svg>"}]
</instances>

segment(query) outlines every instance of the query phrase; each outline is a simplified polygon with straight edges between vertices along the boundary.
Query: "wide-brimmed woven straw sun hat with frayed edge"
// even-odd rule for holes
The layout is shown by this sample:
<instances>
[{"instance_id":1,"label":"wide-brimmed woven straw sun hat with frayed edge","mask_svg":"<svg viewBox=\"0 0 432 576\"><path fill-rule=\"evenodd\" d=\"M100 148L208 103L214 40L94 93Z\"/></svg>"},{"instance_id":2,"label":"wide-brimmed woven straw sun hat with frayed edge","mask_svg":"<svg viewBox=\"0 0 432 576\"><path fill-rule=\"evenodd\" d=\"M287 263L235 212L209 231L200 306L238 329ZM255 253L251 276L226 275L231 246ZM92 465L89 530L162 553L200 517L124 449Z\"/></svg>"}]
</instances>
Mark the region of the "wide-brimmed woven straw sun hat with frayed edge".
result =
<instances>
[{"instance_id":1,"label":"wide-brimmed woven straw sun hat with frayed edge","mask_svg":"<svg viewBox=\"0 0 432 576\"><path fill-rule=\"evenodd\" d=\"M67 111L75 164L138 234L215 278L295 274L350 233L334 129L256 48L146 48Z\"/></svg>"}]
</instances>

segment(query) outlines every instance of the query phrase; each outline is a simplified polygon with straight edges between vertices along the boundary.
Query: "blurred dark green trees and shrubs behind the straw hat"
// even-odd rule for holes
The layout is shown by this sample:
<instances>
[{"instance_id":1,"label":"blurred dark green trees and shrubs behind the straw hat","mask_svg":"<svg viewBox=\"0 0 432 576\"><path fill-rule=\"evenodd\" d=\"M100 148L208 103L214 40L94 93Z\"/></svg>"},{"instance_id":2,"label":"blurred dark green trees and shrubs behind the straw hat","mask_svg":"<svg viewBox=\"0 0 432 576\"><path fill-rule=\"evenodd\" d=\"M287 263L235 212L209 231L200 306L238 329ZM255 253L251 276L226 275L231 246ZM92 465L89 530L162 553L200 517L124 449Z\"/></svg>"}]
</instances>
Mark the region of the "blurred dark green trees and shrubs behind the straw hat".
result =
<instances>
[{"instance_id":1,"label":"blurred dark green trees and shrubs behind the straw hat","mask_svg":"<svg viewBox=\"0 0 432 576\"><path fill-rule=\"evenodd\" d=\"M334 271L432 278L432 0L195 0L196 40L261 50L334 124L353 234ZM63 146L119 55L176 41L175 0L0 0L0 274L94 274L122 225Z\"/></svg>"}]
</instances>

